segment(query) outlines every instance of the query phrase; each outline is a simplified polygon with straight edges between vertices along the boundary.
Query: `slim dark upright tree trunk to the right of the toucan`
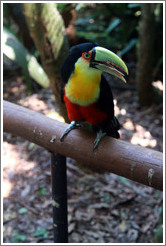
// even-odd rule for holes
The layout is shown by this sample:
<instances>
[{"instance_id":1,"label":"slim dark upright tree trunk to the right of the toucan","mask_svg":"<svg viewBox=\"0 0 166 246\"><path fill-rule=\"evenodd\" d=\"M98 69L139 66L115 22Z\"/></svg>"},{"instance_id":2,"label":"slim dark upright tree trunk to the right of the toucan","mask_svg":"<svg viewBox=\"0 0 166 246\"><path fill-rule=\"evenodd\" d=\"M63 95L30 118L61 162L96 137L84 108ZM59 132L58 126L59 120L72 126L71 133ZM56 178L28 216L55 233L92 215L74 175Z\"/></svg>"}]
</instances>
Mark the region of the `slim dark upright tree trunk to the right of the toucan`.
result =
<instances>
[{"instance_id":1,"label":"slim dark upright tree trunk to the right of the toucan","mask_svg":"<svg viewBox=\"0 0 166 246\"><path fill-rule=\"evenodd\" d=\"M140 22L140 47L138 54L137 88L141 106L149 106L154 100L152 88L154 68L154 3L142 4L142 18Z\"/></svg>"}]
</instances>

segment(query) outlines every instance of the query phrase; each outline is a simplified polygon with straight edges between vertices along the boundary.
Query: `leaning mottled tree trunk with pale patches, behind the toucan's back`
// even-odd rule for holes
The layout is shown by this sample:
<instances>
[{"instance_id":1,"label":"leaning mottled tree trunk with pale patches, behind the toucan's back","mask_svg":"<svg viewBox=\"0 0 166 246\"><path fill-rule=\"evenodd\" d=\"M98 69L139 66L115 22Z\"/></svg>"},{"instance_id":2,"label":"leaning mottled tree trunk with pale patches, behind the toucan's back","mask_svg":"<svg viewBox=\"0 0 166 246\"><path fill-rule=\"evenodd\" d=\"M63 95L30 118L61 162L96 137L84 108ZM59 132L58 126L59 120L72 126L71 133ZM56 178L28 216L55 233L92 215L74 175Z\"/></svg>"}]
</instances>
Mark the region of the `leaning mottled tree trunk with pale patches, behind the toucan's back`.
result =
<instances>
[{"instance_id":1,"label":"leaning mottled tree trunk with pale patches, behind the toucan's back","mask_svg":"<svg viewBox=\"0 0 166 246\"><path fill-rule=\"evenodd\" d=\"M23 3L23 11L42 65L50 79L60 113L68 121L61 103L60 68L68 52L65 28L55 3Z\"/></svg>"}]
</instances>

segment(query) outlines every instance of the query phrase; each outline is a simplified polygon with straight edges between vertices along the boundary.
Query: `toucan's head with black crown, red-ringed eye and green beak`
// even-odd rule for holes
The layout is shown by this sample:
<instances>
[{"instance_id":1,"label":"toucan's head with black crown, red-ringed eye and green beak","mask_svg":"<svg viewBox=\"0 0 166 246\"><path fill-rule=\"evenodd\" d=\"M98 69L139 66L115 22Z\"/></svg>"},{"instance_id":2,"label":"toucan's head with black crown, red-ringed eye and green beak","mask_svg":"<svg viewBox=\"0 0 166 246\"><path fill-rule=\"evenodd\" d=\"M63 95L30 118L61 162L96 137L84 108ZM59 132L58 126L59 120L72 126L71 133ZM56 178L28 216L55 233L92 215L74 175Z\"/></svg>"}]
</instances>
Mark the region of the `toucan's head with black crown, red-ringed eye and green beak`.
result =
<instances>
[{"instance_id":1,"label":"toucan's head with black crown, red-ringed eye and green beak","mask_svg":"<svg viewBox=\"0 0 166 246\"><path fill-rule=\"evenodd\" d=\"M78 61L88 68L112 74L126 82L124 76L128 74L128 69L125 63L115 53L97 43L78 44L70 49L69 56L61 70L64 82L67 82Z\"/></svg>"}]
</instances>

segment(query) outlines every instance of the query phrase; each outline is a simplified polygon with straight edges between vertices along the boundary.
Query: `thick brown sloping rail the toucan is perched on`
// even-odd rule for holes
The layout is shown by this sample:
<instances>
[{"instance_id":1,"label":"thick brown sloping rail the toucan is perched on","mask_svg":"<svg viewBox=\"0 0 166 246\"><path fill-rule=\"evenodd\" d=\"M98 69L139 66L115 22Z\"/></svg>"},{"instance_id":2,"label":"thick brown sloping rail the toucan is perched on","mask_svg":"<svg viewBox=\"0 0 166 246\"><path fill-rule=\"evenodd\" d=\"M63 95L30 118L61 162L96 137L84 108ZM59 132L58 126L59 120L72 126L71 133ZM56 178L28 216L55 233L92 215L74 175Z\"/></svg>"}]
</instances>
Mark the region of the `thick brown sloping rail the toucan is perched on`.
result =
<instances>
[{"instance_id":1,"label":"thick brown sloping rail the toucan is perched on","mask_svg":"<svg viewBox=\"0 0 166 246\"><path fill-rule=\"evenodd\" d=\"M4 101L4 131L20 136L43 148L71 157L89 168L112 172L136 182L163 189L162 153L132 145L122 140L104 137L93 151L96 135L73 130L59 138L67 127L40 113Z\"/></svg>"}]
</instances>

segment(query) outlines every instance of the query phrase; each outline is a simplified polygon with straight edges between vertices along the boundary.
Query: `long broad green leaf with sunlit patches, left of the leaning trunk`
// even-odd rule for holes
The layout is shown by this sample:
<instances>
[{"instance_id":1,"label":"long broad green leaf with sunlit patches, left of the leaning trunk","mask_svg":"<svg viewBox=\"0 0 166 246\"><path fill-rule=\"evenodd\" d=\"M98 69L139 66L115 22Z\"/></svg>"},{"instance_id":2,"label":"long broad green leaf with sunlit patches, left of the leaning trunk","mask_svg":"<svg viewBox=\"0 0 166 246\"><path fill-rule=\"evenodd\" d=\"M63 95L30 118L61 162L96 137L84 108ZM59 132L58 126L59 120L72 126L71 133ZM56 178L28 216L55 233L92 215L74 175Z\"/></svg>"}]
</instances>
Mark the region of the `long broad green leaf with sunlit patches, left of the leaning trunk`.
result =
<instances>
[{"instance_id":1,"label":"long broad green leaf with sunlit patches, left of the leaning trunk","mask_svg":"<svg viewBox=\"0 0 166 246\"><path fill-rule=\"evenodd\" d=\"M37 51L34 50L33 54L31 54L31 52L26 49L23 38L18 32L19 27L13 22L7 4L3 4L3 10L3 53L10 60L17 62L21 67L29 94L31 93L31 79L36 81L43 88L47 88L50 82L43 67L37 60Z\"/></svg>"}]
</instances>

